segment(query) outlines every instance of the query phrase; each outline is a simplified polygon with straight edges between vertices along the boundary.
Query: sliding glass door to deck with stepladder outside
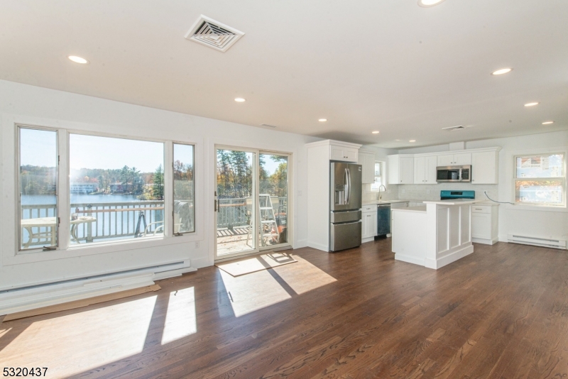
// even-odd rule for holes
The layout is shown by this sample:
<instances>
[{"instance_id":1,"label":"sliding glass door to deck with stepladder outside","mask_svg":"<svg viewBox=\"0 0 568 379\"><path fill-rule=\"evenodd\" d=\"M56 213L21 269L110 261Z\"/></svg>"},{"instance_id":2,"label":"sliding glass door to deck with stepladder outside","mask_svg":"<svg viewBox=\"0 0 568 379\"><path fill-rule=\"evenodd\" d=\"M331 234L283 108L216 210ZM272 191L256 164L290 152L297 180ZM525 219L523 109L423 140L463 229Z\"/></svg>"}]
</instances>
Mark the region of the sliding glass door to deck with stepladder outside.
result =
<instances>
[{"instance_id":1,"label":"sliding glass door to deck with stepladder outside","mask_svg":"<svg viewBox=\"0 0 568 379\"><path fill-rule=\"evenodd\" d=\"M288 155L216 148L216 259L288 245Z\"/></svg>"}]
</instances>

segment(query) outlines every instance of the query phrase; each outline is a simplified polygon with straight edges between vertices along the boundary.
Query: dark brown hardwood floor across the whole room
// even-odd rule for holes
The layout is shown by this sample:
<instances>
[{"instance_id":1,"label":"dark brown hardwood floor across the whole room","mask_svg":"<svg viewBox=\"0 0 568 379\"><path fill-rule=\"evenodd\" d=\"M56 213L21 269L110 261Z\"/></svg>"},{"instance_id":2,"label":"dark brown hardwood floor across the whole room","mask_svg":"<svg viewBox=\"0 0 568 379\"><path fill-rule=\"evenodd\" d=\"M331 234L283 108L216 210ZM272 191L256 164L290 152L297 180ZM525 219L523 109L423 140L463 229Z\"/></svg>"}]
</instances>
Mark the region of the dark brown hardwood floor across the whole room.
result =
<instances>
[{"instance_id":1,"label":"dark brown hardwood floor across the whole room","mask_svg":"<svg viewBox=\"0 0 568 379\"><path fill-rule=\"evenodd\" d=\"M440 270L391 241L0 324L0 369L48 378L568 377L568 253L497 243Z\"/></svg>"}]
</instances>

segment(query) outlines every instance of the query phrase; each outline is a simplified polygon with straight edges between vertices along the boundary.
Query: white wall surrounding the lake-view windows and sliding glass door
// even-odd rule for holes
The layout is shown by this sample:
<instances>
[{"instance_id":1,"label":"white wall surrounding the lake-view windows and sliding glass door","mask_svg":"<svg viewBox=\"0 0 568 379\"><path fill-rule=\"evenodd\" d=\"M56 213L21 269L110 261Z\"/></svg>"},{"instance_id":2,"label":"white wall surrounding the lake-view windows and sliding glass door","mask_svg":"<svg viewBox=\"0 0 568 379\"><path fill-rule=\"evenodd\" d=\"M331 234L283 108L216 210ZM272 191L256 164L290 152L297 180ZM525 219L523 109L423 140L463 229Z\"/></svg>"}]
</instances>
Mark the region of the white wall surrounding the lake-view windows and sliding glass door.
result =
<instances>
[{"instance_id":1,"label":"white wall surrounding the lake-view windows and sliding glass door","mask_svg":"<svg viewBox=\"0 0 568 379\"><path fill-rule=\"evenodd\" d=\"M230 104L231 106L233 104ZM240 110L243 111L243 110ZM1 209L4 219L15 228L16 170L13 160L14 123L54 126L75 131L94 131L124 136L156 138L196 143L196 198L197 233L188 238L154 243L155 246L121 244L113 248L91 250L88 255L72 256L59 252L60 258L48 259L50 252L40 253L41 260L16 256L16 243L6 231L0 231L0 289L20 287L38 282L65 278L80 278L130 268L139 268L189 258L192 266L201 268L213 264L215 236L213 193L215 185L214 145L233 145L293 153L293 224L290 242L295 248L306 243L306 192L305 143L319 138L255 128L226 121L206 119L117 101L87 97L52 89L33 87L0 80L0 156L3 165ZM8 136L8 137L6 137ZM9 170L8 170L9 169ZM210 205L210 207L209 207ZM167 238L166 238L167 239ZM178 243L177 241L181 241ZM200 242L196 248L195 242ZM6 257L9 257L6 258ZM19 259L22 257L21 259ZM46 260L45 260L46 259Z\"/></svg>"}]
</instances>

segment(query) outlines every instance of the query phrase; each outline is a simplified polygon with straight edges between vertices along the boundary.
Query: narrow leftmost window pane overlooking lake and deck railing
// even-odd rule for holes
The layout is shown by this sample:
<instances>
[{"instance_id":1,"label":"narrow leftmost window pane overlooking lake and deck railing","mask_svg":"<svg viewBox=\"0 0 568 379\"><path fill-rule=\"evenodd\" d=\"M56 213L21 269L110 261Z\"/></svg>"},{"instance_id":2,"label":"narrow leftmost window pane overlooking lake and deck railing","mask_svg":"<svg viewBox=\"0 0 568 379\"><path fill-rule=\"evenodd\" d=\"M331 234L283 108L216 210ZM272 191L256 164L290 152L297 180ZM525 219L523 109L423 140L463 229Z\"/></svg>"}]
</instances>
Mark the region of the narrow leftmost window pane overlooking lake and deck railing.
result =
<instances>
[{"instance_id":1,"label":"narrow leftmost window pane overlooking lake and deck railing","mask_svg":"<svg viewBox=\"0 0 568 379\"><path fill-rule=\"evenodd\" d=\"M19 250L58 246L58 133L18 128Z\"/></svg>"}]
</instances>

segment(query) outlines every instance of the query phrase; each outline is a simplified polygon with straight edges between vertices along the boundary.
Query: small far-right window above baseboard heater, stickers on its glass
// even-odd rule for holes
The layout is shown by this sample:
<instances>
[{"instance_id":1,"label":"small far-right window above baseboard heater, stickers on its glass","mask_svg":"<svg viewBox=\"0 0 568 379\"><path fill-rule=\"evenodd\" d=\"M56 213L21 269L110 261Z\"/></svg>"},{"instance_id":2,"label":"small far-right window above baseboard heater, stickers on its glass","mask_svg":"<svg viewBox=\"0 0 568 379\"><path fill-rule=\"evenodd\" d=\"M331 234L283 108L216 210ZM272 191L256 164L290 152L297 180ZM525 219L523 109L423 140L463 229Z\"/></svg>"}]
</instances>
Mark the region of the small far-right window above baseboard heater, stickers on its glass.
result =
<instances>
[{"instance_id":1,"label":"small far-right window above baseboard heater, stickers on its glass","mask_svg":"<svg viewBox=\"0 0 568 379\"><path fill-rule=\"evenodd\" d=\"M564 206L565 155L547 153L515 156L515 203Z\"/></svg>"}]
</instances>

